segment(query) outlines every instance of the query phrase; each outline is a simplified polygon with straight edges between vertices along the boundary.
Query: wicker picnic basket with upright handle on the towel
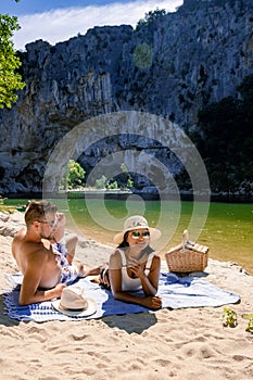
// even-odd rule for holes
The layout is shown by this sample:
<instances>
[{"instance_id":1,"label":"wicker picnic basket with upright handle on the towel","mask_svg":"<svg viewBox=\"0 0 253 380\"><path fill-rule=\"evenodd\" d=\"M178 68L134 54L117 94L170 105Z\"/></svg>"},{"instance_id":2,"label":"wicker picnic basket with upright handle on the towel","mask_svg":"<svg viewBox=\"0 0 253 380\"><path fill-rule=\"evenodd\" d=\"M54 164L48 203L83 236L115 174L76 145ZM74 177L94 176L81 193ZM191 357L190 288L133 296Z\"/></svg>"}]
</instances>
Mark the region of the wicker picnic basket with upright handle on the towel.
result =
<instances>
[{"instance_id":1,"label":"wicker picnic basket with upright handle on the towel","mask_svg":"<svg viewBox=\"0 0 253 380\"><path fill-rule=\"evenodd\" d=\"M207 266L208 246L189 241L188 230L182 233L182 243L165 253L168 271L203 271Z\"/></svg>"}]
</instances>

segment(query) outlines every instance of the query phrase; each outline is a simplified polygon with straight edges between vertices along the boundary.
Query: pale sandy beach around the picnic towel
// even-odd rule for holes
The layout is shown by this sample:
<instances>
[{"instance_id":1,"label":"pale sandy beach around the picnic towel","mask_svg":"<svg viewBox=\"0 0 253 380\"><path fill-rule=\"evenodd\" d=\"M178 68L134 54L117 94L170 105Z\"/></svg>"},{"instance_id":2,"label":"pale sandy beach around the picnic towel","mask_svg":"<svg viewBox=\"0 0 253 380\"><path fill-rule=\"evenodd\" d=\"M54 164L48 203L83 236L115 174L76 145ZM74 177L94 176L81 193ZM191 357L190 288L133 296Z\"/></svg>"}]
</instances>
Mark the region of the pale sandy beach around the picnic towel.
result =
<instances>
[{"instance_id":1,"label":"pale sandy beach around the picnic towel","mask_svg":"<svg viewBox=\"0 0 253 380\"><path fill-rule=\"evenodd\" d=\"M161 309L101 319L21 322L5 314L4 274L17 271L11 255L23 214L0 213L0 372L9 380L250 380L253 334L245 314L253 313L253 277L235 263L212 259L205 279L240 294L227 305L238 326L223 326L222 307ZM77 258L93 266L106 262L112 248L80 239ZM163 263L165 266L165 263Z\"/></svg>"}]
</instances>

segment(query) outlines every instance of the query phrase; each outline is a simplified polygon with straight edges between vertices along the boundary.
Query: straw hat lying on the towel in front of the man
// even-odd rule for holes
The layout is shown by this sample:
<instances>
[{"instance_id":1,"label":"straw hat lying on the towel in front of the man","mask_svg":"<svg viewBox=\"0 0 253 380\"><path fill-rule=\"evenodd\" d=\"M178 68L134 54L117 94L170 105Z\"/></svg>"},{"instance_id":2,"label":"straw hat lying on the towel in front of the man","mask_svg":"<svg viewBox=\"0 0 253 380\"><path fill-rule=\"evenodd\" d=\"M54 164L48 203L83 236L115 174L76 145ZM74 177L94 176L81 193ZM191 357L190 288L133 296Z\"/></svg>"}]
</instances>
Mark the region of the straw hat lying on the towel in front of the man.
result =
<instances>
[{"instance_id":1,"label":"straw hat lying on the towel in front of the man","mask_svg":"<svg viewBox=\"0 0 253 380\"><path fill-rule=\"evenodd\" d=\"M61 300L53 301L52 306L69 317L87 317L97 312L96 301L87 299L85 290L78 286L64 288Z\"/></svg>"}]
</instances>

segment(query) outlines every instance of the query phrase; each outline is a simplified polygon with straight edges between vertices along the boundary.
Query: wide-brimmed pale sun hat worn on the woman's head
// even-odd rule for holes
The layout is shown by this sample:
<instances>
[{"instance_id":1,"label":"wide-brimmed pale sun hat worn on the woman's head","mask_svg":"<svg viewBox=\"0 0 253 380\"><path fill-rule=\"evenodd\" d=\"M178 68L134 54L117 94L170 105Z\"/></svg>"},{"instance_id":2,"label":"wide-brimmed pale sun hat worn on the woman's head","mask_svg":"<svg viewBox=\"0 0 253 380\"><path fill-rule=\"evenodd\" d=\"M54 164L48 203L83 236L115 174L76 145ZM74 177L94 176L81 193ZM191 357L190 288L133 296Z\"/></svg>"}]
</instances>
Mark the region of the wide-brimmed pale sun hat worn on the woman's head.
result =
<instances>
[{"instance_id":1,"label":"wide-brimmed pale sun hat worn on the woman's head","mask_svg":"<svg viewBox=\"0 0 253 380\"><path fill-rule=\"evenodd\" d=\"M149 227L148 220L141 215L134 215L127 218L124 223L124 230L114 236L113 241L121 244L124 240L124 235L127 231L136 229L148 229L150 231L150 241L157 240L161 237L161 231L157 228Z\"/></svg>"}]
</instances>

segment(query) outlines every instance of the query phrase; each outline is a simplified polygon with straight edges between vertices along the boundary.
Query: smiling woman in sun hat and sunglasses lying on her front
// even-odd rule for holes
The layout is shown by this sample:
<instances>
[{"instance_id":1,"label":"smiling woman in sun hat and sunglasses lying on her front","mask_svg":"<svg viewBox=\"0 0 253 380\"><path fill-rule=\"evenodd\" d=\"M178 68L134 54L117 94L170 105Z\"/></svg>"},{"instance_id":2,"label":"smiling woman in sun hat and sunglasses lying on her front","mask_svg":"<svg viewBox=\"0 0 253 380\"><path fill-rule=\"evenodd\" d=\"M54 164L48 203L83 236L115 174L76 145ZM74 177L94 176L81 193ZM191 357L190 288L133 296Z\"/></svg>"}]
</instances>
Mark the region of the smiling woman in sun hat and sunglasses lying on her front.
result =
<instances>
[{"instance_id":1,"label":"smiling woman in sun hat and sunglasses lying on her front","mask_svg":"<svg viewBox=\"0 0 253 380\"><path fill-rule=\"evenodd\" d=\"M151 228L144 217L126 219L124 230L114 237L117 248L112 253L109 269L101 274L101 284L110 287L116 300L157 309L162 300L155 296L159 288L161 261L149 243L157 240L161 231ZM107 276L109 274L109 276ZM144 296L132 292L141 290Z\"/></svg>"}]
</instances>

